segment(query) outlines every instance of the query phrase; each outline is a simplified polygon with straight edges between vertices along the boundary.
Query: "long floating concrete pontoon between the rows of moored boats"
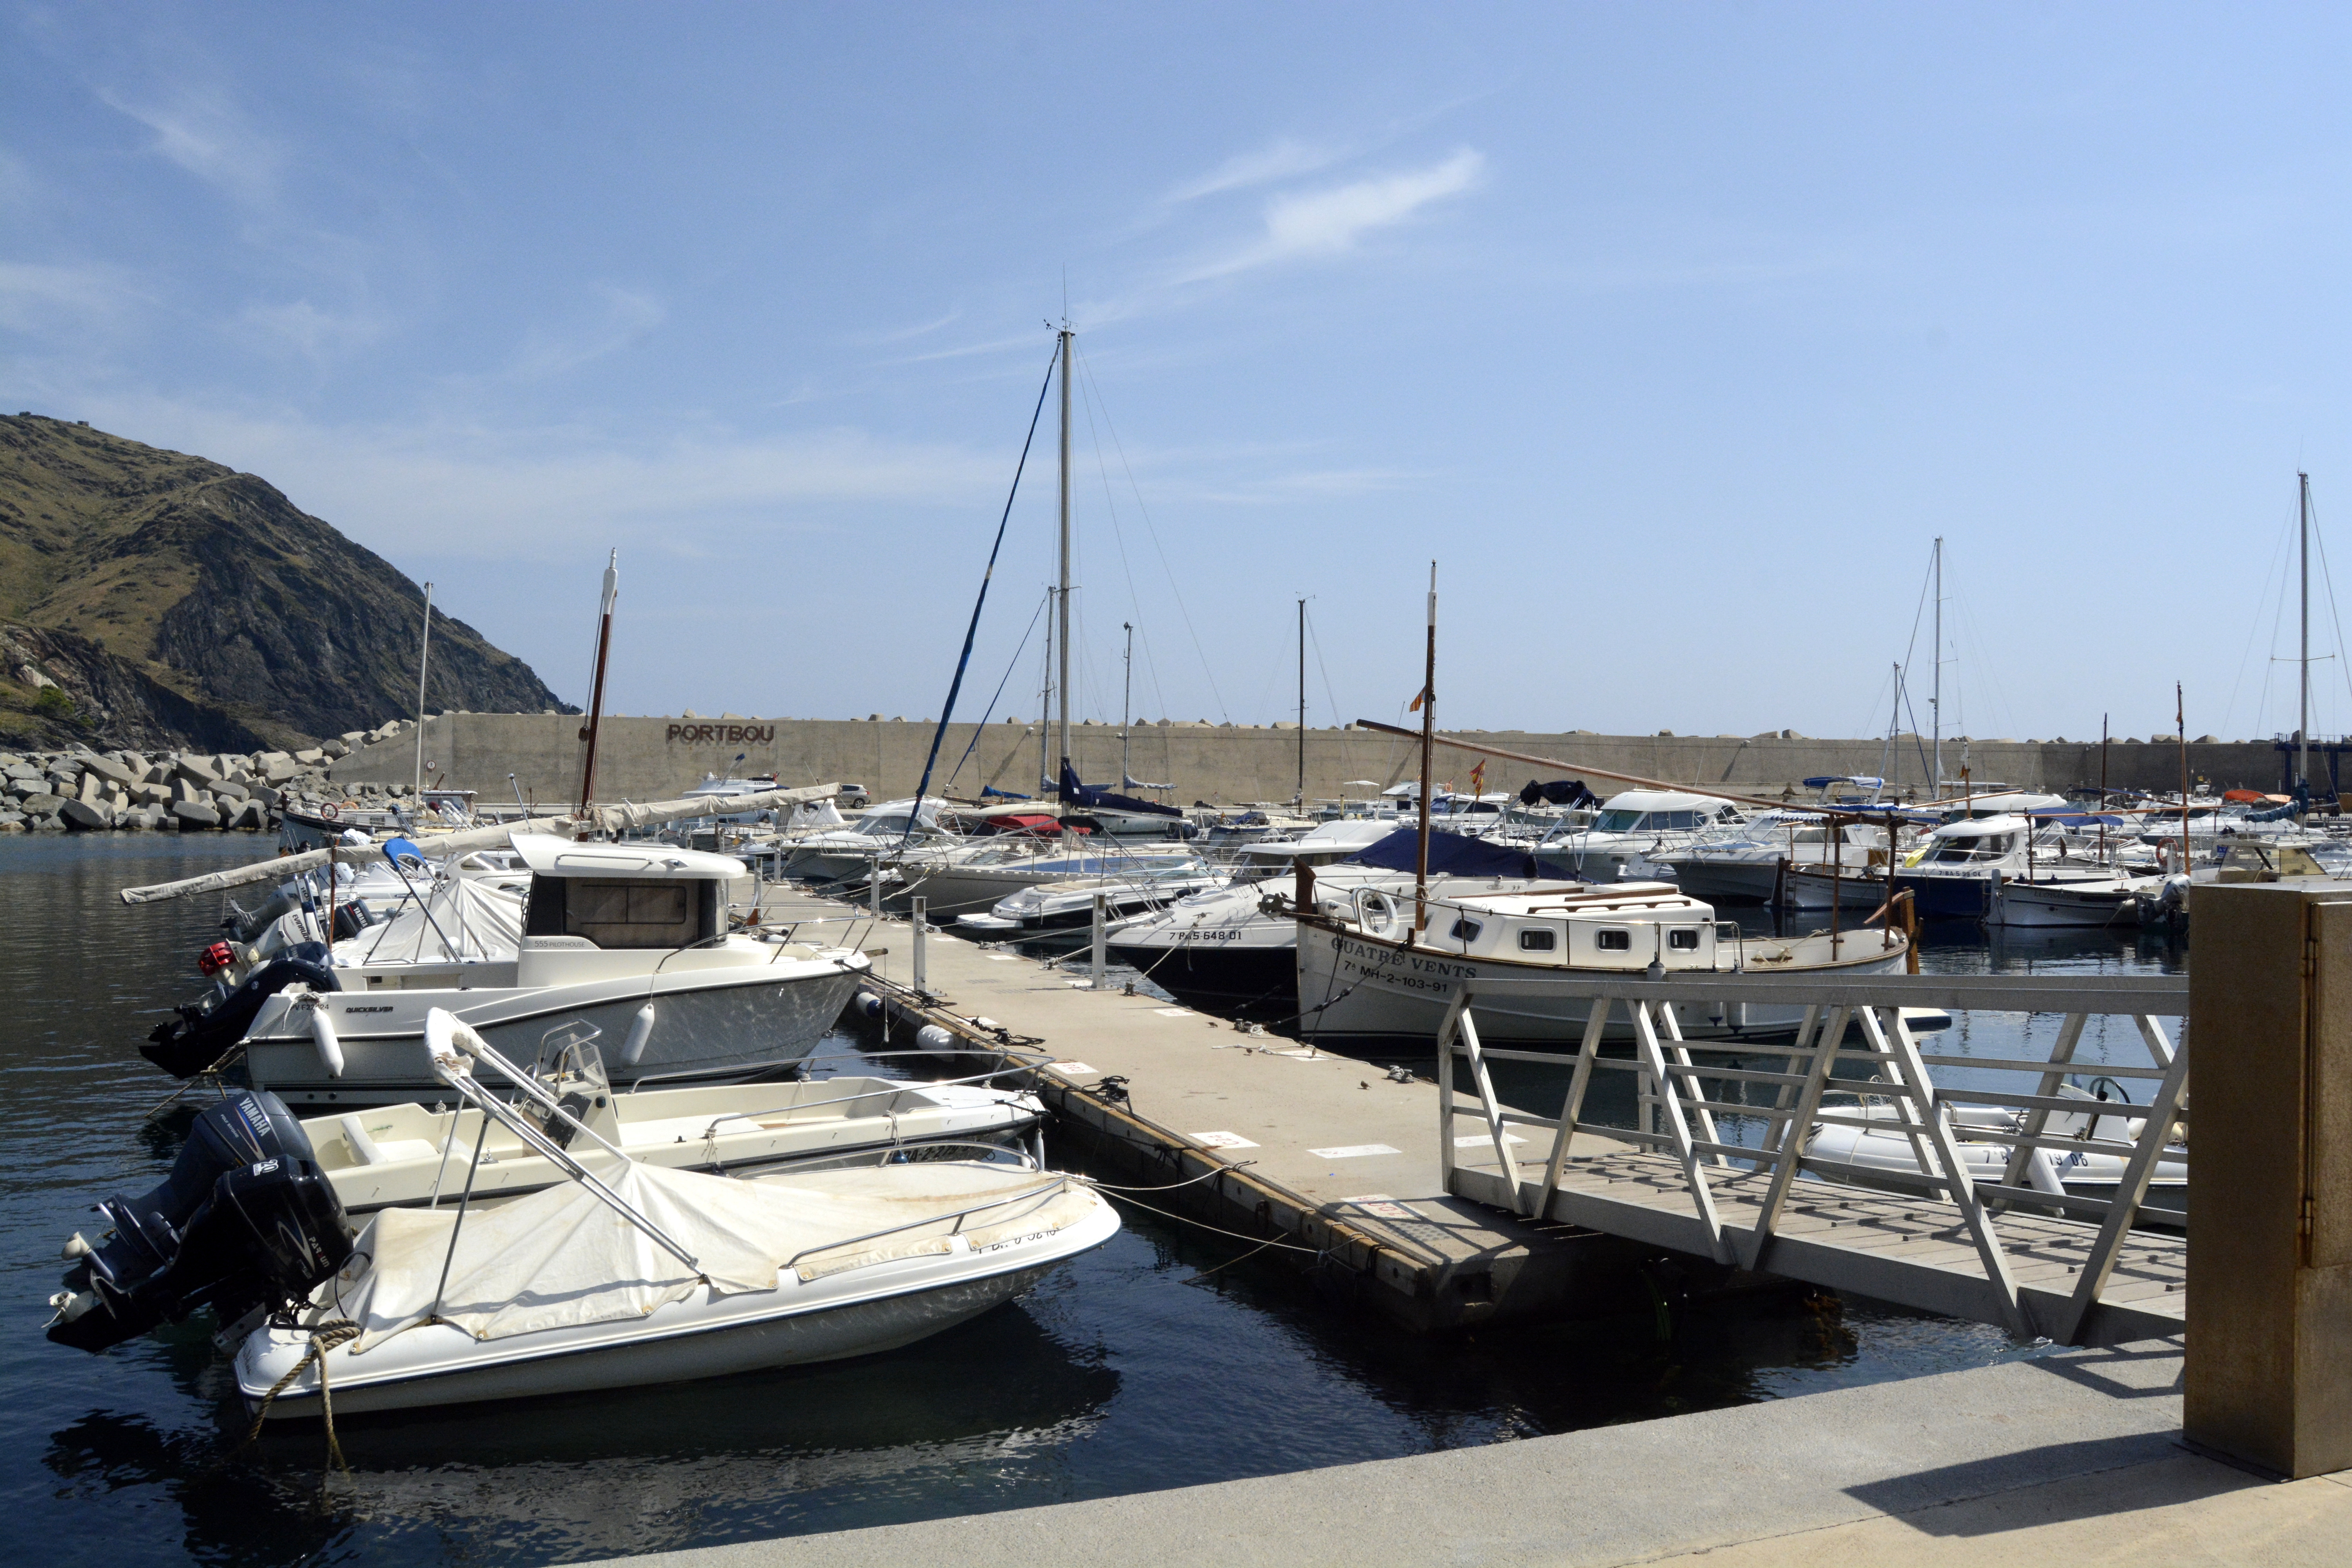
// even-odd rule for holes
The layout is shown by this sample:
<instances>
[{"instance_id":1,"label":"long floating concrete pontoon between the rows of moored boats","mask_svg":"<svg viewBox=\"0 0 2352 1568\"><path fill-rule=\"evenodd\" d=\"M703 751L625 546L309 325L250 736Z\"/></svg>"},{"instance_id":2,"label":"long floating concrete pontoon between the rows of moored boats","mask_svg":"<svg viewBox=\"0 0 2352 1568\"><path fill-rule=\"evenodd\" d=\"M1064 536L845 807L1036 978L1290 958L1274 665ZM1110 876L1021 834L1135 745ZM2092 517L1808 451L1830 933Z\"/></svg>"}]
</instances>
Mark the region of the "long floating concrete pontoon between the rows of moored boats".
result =
<instances>
[{"instance_id":1,"label":"long floating concrete pontoon between the rows of moored boats","mask_svg":"<svg viewBox=\"0 0 2352 1568\"><path fill-rule=\"evenodd\" d=\"M1653 1307L1639 1267L1658 1248L1446 1192L1430 1067L1397 1081L1185 1006L1096 992L1068 964L941 931L924 938L917 994L906 922L868 926L858 910L774 889L762 912L774 926L823 919L866 933L856 940L875 952L891 1048L936 1025L974 1058L1025 1067L1058 1135L1110 1166L1108 1180L1120 1171L1138 1185L1190 1182L1136 1201L1235 1232L1237 1251L1305 1248L1298 1260L1324 1288L1406 1328ZM1693 1279L1700 1291L1776 1284L1705 1265Z\"/></svg>"}]
</instances>

